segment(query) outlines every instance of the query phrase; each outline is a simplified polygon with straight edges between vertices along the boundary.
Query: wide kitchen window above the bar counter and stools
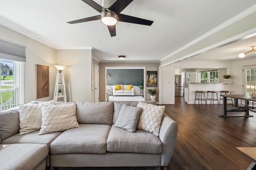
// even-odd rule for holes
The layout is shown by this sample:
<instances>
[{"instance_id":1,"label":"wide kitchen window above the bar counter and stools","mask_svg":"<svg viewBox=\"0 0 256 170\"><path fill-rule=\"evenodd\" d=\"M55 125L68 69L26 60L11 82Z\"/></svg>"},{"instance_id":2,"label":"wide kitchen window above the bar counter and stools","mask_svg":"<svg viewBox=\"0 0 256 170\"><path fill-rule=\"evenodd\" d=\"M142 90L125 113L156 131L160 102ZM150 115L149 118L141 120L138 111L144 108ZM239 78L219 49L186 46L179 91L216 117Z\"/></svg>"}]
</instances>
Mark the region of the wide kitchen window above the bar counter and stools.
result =
<instances>
[{"instance_id":1,"label":"wide kitchen window above the bar counter and stools","mask_svg":"<svg viewBox=\"0 0 256 170\"><path fill-rule=\"evenodd\" d=\"M218 70L207 70L199 72L201 83L217 83L219 79Z\"/></svg>"}]
</instances>

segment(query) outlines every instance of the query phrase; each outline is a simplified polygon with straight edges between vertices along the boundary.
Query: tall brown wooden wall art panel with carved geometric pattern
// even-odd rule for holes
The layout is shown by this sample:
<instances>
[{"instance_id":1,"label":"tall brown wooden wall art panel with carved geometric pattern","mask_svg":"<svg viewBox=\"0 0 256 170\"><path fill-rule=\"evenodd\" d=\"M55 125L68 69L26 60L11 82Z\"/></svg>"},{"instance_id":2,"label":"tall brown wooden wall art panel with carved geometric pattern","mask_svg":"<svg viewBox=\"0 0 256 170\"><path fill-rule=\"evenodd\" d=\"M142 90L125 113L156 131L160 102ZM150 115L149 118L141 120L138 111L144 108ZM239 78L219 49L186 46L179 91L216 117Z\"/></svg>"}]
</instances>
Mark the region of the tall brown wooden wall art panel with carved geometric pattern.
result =
<instances>
[{"instance_id":1,"label":"tall brown wooden wall art panel with carved geometric pattern","mask_svg":"<svg viewBox=\"0 0 256 170\"><path fill-rule=\"evenodd\" d=\"M36 64L36 98L49 97L49 66Z\"/></svg>"}]
</instances>

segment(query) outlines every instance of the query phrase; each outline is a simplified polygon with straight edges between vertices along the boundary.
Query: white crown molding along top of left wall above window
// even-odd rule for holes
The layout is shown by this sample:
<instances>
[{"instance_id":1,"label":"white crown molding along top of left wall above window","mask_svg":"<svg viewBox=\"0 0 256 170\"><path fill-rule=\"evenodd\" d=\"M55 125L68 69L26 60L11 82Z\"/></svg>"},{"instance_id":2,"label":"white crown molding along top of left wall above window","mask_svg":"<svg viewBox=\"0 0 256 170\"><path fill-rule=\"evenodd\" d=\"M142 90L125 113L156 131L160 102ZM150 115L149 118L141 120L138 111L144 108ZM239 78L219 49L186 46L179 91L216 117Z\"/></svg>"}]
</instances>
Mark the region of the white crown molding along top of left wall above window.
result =
<instances>
[{"instance_id":1,"label":"white crown molding along top of left wall above window","mask_svg":"<svg viewBox=\"0 0 256 170\"><path fill-rule=\"evenodd\" d=\"M0 25L3 25L4 27L12 29L13 31L16 31L16 32L18 32L18 33L20 33L22 35L25 35L25 36L27 36L27 37L29 37L31 39L34 39L34 40L36 40L36 41L38 41L40 43L43 43L45 45L48 45L48 46L56 49L55 45L52 45L51 43L48 43L47 41L44 41L43 39L33 35L32 33L29 33L28 31L25 31L24 29L21 29L21 28L15 26L15 25L13 25L12 23L10 23L10 21L2 20L0 18Z\"/></svg>"}]
</instances>

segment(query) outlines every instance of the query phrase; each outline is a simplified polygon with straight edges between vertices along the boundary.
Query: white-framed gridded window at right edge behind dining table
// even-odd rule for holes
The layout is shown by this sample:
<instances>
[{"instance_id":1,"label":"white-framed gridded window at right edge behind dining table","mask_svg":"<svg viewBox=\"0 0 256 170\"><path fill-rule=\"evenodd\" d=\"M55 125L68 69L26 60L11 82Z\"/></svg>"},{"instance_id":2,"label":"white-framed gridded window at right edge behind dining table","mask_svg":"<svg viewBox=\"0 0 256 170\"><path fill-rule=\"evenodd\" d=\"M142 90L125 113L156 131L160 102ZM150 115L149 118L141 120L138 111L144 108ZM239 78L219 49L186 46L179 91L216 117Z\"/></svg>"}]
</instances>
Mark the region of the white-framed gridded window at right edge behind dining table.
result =
<instances>
[{"instance_id":1,"label":"white-framed gridded window at right edge behind dining table","mask_svg":"<svg viewBox=\"0 0 256 170\"><path fill-rule=\"evenodd\" d=\"M256 68L245 69L245 94L256 93L255 89Z\"/></svg>"}]
</instances>

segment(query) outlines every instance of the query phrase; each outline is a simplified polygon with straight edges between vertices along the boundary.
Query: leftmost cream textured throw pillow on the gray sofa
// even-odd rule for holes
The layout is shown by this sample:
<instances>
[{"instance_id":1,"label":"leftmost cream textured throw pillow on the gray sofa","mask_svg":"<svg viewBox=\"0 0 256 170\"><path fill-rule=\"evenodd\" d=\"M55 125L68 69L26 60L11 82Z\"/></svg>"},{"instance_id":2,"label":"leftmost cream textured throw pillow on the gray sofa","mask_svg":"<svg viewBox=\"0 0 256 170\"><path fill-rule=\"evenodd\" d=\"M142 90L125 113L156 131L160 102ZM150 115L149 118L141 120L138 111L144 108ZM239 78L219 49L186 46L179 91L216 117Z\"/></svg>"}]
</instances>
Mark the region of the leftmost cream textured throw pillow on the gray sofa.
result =
<instances>
[{"instance_id":1,"label":"leftmost cream textured throw pillow on the gray sofa","mask_svg":"<svg viewBox=\"0 0 256 170\"><path fill-rule=\"evenodd\" d=\"M44 104L55 104L54 100ZM20 135L38 131L42 125L42 104L19 104Z\"/></svg>"}]
</instances>

